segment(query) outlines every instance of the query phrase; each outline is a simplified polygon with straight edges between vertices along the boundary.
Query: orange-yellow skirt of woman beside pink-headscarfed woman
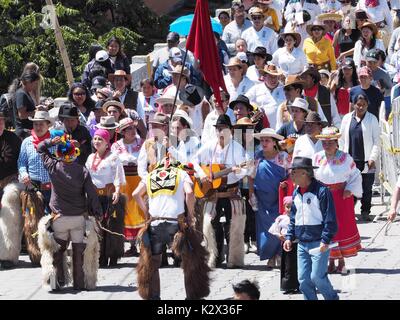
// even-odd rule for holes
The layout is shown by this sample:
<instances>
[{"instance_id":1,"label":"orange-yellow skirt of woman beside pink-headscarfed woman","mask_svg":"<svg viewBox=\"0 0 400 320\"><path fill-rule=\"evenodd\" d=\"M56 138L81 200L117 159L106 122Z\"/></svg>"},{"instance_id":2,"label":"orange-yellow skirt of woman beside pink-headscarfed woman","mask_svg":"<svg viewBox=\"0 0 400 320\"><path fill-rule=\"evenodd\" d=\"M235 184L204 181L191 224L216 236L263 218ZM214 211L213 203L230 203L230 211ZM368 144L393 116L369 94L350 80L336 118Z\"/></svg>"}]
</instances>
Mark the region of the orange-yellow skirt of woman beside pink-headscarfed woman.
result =
<instances>
[{"instance_id":1,"label":"orange-yellow skirt of woman beside pink-headscarfed woman","mask_svg":"<svg viewBox=\"0 0 400 320\"><path fill-rule=\"evenodd\" d=\"M139 182L139 176L126 176L126 185L121 188L121 193L125 194L127 198L124 234L128 240L136 239L138 231L143 227L145 222L143 211L132 197L132 192L136 189Z\"/></svg>"}]
</instances>

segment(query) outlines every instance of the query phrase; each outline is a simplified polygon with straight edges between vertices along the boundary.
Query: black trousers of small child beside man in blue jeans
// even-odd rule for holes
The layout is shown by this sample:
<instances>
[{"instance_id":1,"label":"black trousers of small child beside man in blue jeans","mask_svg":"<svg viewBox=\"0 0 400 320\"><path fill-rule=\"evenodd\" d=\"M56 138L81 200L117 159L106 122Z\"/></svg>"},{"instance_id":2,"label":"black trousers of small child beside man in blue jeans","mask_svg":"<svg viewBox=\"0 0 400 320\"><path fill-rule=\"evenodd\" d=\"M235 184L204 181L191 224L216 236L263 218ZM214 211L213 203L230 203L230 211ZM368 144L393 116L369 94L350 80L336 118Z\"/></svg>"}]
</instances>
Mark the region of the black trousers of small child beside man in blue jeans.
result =
<instances>
[{"instance_id":1,"label":"black trousers of small child beside man in blue jeans","mask_svg":"<svg viewBox=\"0 0 400 320\"><path fill-rule=\"evenodd\" d=\"M298 290L297 280L297 243L292 243L292 251L282 249L281 259L281 290Z\"/></svg>"}]
</instances>

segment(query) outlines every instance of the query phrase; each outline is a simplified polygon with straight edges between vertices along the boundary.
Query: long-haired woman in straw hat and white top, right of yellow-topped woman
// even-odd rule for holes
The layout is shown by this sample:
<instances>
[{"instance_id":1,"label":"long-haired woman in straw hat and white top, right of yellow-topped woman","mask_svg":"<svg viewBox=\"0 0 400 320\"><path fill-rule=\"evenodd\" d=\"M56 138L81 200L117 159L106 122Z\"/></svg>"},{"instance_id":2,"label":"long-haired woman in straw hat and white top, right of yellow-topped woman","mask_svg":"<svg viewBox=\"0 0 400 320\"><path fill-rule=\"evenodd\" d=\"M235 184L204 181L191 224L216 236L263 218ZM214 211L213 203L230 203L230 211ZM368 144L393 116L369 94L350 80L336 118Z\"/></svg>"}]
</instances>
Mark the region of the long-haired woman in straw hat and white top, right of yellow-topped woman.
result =
<instances>
[{"instance_id":1,"label":"long-haired woman in straw hat and white top, right of yellow-topped woman","mask_svg":"<svg viewBox=\"0 0 400 320\"><path fill-rule=\"evenodd\" d=\"M380 49L386 51L383 41L376 38L378 28L372 22L364 22L361 26L361 38L354 45L353 60L356 67L366 65L365 57L368 50Z\"/></svg>"}]
</instances>

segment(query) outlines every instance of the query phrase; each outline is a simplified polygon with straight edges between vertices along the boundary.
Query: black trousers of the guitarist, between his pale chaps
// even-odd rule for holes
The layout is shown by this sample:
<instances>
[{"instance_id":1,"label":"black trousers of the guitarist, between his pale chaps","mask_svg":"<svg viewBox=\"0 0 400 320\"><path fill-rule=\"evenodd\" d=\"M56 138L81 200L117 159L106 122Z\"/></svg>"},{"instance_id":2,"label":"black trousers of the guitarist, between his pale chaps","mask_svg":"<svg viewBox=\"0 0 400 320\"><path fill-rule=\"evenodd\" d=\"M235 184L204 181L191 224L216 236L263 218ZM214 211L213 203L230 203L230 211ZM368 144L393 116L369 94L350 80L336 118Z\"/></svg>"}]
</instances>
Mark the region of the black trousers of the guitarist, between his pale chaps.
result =
<instances>
[{"instance_id":1,"label":"black trousers of the guitarist, between his pale chaps","mask_svg":"<svg viewBox=\"0 0 400 320\"><path fill-rule=\"evenodd\" d=\"M224 239L228 244L229 248L229 229L231 226L232 208L231 201L228 198L222 198L217 200L216 204L216 216L211 221L211 225L214 229L215 241L217 242L218 256L217 266L224 262ZM221 217L225 217L225 222L220 222ZM226 253L227 255L229 252Z\"/></svg>"}]
</instances>

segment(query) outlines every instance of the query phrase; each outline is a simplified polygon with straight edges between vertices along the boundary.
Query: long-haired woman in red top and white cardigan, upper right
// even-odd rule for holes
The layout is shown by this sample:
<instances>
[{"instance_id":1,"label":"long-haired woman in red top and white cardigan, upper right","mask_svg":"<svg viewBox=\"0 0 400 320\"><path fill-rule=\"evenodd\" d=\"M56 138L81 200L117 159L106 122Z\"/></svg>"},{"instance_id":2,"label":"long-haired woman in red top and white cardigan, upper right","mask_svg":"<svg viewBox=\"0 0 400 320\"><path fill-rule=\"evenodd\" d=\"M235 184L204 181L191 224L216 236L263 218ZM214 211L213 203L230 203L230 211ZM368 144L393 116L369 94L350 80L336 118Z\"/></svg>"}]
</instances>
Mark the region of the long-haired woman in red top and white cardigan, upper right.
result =
<instances>
[{"instance_id":1,"label":"long-haired woman in red top and white cardigan, upper right","mask_svg":"<svg viewBox=\"0 0 400 320\"><path fill-rule=\"evenodd\" d=\"M358 85L359 81L354 61L352 58L346 58L330 86L341 117L349 112L350 89Z\"/></svg>"}]
</instances>

